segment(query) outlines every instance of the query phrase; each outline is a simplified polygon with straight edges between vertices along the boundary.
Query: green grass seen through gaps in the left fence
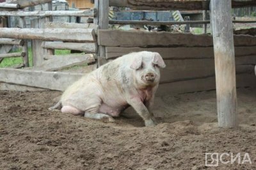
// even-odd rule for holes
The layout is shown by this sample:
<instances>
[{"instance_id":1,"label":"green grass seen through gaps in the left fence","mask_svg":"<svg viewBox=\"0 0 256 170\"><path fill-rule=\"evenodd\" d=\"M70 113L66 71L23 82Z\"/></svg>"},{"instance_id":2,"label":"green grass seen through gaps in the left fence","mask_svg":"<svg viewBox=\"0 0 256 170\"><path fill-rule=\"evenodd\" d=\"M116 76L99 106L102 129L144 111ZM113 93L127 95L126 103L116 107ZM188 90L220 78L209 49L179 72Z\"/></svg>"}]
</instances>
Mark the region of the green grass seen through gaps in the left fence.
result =
<instances>
[{"instance_id":1,"label":"green grass seen through gaps in the left fence","mask_svg":"<svg viewBox=\"0 0 256 170\"><path fill-rule=\"evenodd\" d=\"M21 49L15 50L15 51L12 51L12 52L21 52ZM55 50L55 55L65 55L65 54L68 54L68 53L70 53L70 50ZM33 66L31 48L28 49L28 57L29 57L29 67L31 67L31 66ZM15 65L22 64L22 62L23 62L22 57L5 58L0 63L0 67L12 67L12 66L15 66Z\"/></svg>"}]
</instances>

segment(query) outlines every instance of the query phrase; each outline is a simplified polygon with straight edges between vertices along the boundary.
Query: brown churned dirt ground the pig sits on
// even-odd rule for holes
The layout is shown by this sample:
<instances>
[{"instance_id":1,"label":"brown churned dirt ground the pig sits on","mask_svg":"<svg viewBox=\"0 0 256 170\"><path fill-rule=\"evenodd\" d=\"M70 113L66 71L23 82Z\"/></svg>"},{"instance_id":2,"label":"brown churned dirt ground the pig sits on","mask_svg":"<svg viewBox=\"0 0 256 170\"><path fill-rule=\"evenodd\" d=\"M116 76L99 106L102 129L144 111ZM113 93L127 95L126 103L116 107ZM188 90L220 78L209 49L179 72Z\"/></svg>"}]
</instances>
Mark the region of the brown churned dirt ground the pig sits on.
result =
<instances>
[{"instance_id":1,"label":"brown churned dirt ground the pig sits on","mask_svg":"<svg viewBox=\"0 0 256 170\"><path fill-rule=\"evenodd\" d=\"M157 97L156 127L132 110L115 123L48 111L60 94L0 91L0 169L256 169L256 89L237 90L237 129L217 127L214 91ZM205 152L252 164L207 167Z\"/></svg>"}]
</instances>

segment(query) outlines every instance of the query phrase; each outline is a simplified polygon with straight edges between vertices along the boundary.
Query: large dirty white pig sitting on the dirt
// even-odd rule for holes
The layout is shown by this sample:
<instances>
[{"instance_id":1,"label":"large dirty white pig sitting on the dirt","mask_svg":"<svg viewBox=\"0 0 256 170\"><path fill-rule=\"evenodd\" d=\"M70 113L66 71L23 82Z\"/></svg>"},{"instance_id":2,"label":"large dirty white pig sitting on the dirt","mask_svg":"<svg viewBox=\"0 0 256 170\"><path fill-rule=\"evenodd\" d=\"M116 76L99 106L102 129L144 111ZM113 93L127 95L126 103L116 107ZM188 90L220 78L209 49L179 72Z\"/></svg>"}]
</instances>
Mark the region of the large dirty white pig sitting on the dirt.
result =
<instances>
[{"instance_id":1,"label":"large dirty white pig sitting on the dirt","mask_svg":"<svg viewBox=\"0 0 256 170\"><path fill-rule=\"evenodd\" d=\"M132 106L146 126L154 126L157 122L151 109L160 80L159 68L165 66L157 52L123 55L73 83L49 109L113 122L113 117Z\"/></svg>"}]
</instances>

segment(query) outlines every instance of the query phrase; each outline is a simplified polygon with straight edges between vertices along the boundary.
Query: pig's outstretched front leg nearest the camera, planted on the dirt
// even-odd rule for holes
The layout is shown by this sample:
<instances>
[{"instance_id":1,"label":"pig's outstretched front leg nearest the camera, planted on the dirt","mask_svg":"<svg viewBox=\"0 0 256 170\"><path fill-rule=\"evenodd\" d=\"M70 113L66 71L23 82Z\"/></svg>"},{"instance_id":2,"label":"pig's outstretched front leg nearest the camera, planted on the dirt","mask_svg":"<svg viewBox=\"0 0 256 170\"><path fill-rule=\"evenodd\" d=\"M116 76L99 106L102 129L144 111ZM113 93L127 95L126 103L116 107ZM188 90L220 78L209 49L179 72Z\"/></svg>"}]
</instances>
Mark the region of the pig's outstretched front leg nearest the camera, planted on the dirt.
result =
<instances>
[{"instance_id":1,"label":"pig's outstretched front leg nearest the camera, planted on the dirt","mask_svg":"<svg viewBox=\"0 0 256 170\"><path fill-rule=\"evenodd\" d=\"M147 107L143 104L140 98L131 98L128 103L134 108L134 110L140 115L145 121L146 126L154 126L156 123L153 120L152 115L148 111Z\"/></svg>"}]
</instances>

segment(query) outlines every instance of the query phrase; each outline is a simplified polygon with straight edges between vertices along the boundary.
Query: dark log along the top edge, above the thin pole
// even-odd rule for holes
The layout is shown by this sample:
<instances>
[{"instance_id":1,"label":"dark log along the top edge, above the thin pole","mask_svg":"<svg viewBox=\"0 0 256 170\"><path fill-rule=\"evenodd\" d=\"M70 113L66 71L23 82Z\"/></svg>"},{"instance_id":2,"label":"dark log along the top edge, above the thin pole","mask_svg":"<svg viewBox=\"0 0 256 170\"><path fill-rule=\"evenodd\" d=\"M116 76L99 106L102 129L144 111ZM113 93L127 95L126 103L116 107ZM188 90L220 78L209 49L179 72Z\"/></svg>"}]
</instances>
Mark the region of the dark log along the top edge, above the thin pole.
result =
<instances>
[{"instance_id":1,"label":"dark log along the top edge, above the thin pole","mask_svg":"<svg viewBox=\"0 0 256 170\"><path fill-rule=\"evenodd\" d=\"M209 10L210 0L109 0L109 6L129 7L136 10ZM254 0L232 0L232 8L256 6Z\"/></svg>"}]
</instances>

